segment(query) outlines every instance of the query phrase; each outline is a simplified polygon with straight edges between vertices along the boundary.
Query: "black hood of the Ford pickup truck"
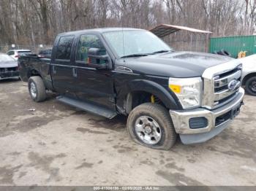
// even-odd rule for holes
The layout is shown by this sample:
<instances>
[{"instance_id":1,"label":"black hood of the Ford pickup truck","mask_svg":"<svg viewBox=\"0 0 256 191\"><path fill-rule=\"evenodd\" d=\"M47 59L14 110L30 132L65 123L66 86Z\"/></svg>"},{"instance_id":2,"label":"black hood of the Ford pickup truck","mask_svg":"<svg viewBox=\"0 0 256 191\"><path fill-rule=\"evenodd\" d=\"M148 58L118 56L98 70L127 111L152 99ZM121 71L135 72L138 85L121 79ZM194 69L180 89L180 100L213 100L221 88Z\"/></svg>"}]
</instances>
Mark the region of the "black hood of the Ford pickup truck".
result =
<instances>
[{"instance_id":1,"label":"black hood of the Ford pickup truck","mask_svg":"<svg viewBox=\"0 0 256 191\"><path fill-rule=\"evenodd\" d=\"M227 56L202 52L167 52L138 58L122 58L134 73L161 77L200 77L209 67L233 60Z\"/></svg>"}]
</instances>

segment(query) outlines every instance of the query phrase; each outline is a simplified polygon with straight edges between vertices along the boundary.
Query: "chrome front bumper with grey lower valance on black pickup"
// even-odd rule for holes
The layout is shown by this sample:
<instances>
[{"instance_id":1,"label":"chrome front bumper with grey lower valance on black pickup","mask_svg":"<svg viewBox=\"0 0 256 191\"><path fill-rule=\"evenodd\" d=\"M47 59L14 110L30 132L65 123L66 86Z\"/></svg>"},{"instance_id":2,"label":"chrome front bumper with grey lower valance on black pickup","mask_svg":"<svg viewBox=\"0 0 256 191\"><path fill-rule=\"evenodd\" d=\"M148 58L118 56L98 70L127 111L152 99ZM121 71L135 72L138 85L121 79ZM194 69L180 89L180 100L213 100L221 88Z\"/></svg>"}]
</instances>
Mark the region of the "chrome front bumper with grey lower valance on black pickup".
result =
<instances>
[{"instance_id":1,"label":"chrome front bumper with grey lower valance on black pickup","mask_svg":"<svg viewBox=\"0 0 256 191\"><path fill-rule=\"evenodd\" d=\"M225 106L218 109L208 110L203 108L189 109L183 111L170 110L170 117L173 120L173 125L176 133L180 134L181 141L184 144L195 144L208 141L222 130L227 128L230 120L233 120L234 108L240 108L243 104L244 89L240 87L236 98ZM231 112L232 111L232 112ZM216 124L220 117L230 114L230 117L223 120L223 122ZM197 117L205 117L208 124L205 128L190 128L189 120Z\"/></svg>"}]
</instances>

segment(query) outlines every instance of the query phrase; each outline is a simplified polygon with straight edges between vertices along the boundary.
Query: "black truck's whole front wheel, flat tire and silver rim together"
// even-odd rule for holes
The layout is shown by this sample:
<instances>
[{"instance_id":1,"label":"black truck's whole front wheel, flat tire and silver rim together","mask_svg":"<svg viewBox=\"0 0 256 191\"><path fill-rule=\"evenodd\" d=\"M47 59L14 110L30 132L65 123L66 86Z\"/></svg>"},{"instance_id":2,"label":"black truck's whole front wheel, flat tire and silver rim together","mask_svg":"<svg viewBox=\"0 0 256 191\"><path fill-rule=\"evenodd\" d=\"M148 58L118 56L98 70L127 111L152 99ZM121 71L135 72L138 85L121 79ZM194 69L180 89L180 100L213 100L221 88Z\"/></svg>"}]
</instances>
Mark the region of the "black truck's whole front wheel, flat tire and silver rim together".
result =
<instances>
[{"instance_id":1,"label":"black truck's whole front wheel, flat tire and silver rim together","mask_svg":"<svg viewBox=\"0 0 256 191\"><path fill-rule=\"evenodd\" d=\"M167 109L159 104L135 107L127 120L129 136L143 146L168 150L176 143L176 131Z\"/></svg>"}]
</instances>

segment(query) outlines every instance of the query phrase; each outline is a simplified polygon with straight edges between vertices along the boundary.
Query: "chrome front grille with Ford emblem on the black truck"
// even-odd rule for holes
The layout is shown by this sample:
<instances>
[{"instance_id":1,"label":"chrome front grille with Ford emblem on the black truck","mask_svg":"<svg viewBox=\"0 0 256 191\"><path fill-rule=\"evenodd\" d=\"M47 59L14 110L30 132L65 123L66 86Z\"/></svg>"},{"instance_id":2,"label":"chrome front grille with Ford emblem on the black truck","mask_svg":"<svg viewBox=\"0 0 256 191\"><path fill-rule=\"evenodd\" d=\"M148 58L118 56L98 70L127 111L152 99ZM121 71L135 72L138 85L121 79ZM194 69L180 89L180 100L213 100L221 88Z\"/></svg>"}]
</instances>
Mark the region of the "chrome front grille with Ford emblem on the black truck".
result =
<instances>
[{"instance_id":1,"label":"chrome front grille with Ford emblem on the black truck","mask_svg":"<svg viewBox=\"0 0 256 191\"><path fill-rule=\"evenodd\" d=\"M241 87L241 63L232 60L206 69L203 73L202 106L217 109L232 101Z\"/></svg>"}]
</instances>

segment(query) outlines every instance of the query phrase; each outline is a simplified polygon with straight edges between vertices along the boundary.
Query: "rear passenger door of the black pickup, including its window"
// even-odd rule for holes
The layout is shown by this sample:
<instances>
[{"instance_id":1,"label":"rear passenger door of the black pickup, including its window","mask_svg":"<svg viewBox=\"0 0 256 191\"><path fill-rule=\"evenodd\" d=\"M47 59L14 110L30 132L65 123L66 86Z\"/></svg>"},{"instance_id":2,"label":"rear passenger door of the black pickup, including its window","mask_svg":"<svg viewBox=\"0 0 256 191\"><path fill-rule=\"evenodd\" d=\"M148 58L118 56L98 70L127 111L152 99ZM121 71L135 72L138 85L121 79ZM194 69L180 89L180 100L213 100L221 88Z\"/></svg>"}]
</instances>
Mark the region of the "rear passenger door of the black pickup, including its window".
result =
<instances>
[{"instance_id":1,"label":"rear passenger door of the black pickup, including its window","mask_svg":"<svg viewBox=\"0 0 256 191\"><path fill-rule=\"evenodd\" d=\"M72 49L75 36L60 36L55 47L55 55L52 55L50 72L53 80L53 87L58 93L74 94L74 77L72 66ZM53 53L54 53L53 52Z\"/></svg>"}]
</instances>

